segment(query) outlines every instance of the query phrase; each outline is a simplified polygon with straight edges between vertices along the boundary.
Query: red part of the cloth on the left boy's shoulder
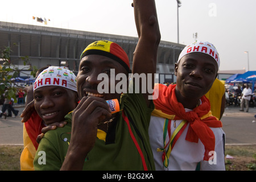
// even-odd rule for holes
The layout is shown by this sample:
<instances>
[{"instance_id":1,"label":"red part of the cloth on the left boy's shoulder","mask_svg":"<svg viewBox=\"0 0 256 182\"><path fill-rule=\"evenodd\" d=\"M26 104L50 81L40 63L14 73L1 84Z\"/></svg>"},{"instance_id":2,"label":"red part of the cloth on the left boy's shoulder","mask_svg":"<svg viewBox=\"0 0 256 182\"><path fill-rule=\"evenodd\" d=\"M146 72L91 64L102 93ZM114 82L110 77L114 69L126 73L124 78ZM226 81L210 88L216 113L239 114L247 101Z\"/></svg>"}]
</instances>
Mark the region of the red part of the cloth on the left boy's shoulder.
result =
<instances>
[{"instance_id":1,"label":"red part of the cloth on the left boy's shoulder","mask_svg":"<svg viewBox=\"0 0 256 182\"><path fill-rule=\"evenodd\" d=\"M26 127L28 137L30 137L35 149L38 150L38 142L36 142L36 138L42 133L43 127L45 127L42 122L42 118L40 118L38 113L34 111L30 119L28 119L24 125Z\"/></svg>"}]
</instances>

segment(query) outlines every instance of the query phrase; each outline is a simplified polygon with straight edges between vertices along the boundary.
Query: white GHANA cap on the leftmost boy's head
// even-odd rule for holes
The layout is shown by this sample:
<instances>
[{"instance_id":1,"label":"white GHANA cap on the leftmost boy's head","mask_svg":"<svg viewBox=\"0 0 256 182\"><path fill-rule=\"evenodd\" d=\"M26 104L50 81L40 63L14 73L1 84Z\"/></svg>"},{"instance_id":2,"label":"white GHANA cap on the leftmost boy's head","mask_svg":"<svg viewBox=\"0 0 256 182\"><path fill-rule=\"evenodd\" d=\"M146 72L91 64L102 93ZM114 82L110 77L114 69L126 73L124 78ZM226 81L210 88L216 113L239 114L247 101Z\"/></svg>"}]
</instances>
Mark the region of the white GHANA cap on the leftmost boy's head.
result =
<instances>
[{"instance_id":1,"label":"white GHANA cap on the leftmost boy's head","mask_svg":"<svg viewBox=\"0 0 256 182\"><path fill-rule=\"evenodd\" d=\"M49 67L44 69L36 78L33 89L36 90L42 86L63 86L64 88L76 89L76 76L67 67Z\"/></svg>"}]
</instances>

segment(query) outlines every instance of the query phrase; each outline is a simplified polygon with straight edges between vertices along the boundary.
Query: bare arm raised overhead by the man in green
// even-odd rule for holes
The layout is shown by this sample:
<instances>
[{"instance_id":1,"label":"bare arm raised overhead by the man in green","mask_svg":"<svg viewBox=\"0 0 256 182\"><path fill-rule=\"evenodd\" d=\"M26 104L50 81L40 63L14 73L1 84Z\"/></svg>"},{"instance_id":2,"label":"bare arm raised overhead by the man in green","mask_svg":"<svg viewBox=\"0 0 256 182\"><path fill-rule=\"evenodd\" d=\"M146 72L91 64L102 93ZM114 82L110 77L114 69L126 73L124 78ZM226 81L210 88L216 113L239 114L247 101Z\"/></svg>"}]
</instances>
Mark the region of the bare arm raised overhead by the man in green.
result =
<instances>
[{"instance_id":1,"label":"bare arm raised overhead by the man in green","mask_svg":"<svg viewBox=\"0 0 256 182\"><path fill-rule=\"evenodd\" d=\"M147 80L152 80L151 85L149 85L151 86L150 90L152 90L154 89L154 73L156 72L156 59L161 37L156 15L155 1L134 0L133 7L139 36L139 41L133 56L133 73L138 73L139 75L141 73L146 74ZM152 73L152 77L147 73ZM140 85L142 85L142 83ZM145 84L143 86L145 86ZM148 88L148 86L146 88ZM139 90L142 90L142 88ZM149 106L151 100L148 100L148 95L152 93L148 93L150 90L146 90L147 92L143 93L143 96Z\"/></svg>"}]
</instances>

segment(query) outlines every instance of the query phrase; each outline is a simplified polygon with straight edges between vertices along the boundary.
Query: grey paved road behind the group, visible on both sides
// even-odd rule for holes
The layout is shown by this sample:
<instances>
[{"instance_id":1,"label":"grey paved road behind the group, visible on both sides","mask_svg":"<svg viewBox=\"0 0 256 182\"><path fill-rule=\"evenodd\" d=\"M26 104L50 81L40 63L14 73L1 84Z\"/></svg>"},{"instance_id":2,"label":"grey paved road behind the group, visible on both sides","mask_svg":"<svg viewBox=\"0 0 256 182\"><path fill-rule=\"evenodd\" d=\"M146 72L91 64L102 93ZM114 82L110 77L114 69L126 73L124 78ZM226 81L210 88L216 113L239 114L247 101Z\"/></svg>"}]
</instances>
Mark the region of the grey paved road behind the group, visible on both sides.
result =
<instances>
[{"instance_id":1,"label":"grey paved road behind the group, visible on both sides","mask_svg":"<svg viewBox=\"0 0 256 182\"><path fill-rule=\"evenodd\" d=\"M24 106L15 105L22 113ZM226 144L256 144L256 107L249 112L239 111L240 107L226 107L221 119L226 133ZM0 118L0 144L23 144L23 123L21 118Z\"/></svg>"}]
</instances>

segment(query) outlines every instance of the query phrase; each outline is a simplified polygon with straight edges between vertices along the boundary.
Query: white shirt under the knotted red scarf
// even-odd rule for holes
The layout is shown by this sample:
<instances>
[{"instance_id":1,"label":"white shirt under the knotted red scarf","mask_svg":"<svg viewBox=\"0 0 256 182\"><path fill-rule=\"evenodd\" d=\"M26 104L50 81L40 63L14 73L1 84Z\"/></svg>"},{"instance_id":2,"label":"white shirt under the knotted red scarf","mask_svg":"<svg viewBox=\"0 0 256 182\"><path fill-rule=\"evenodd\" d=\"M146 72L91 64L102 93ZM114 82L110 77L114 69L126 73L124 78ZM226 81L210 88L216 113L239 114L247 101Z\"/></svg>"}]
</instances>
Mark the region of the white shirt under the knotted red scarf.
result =
<instances>
[{"instance_id":1,"label":"white shirt under the knotted red scarf","mask_svg":"<svg viewBox=\"0 0 256 182\"><path fill-rule=\"evenodd\" d=\"M188 111L186 109L186 111ZM188 170L195 171L197 163L200 164L200 170L225 170L225 160L224 160L224 139L225 133L221 128L211 128L215 136L215 154L214 159L211 160L212 164L208 161L204 161L204 145L200 141L198 143L188 142L185 140L187 135L188 125L185 127L183 133L180 135L177 140L174 148L171 151L169 157L169 165L168 168L163 166L162 154L163 152L158 152L158 148L164 148L163 144L163 126L164 126L165 118L151 116L150 127L149 127L149 135L150 135L150 144L152 148L152 152L154 155L155 168L156 170L169 170L169 171L177 171L177 170ZM176 129L174 127L174 122L176 122L176 127L181 123L181 120L171 121L171 134L174 133ZM169 139L167 133L167 142ZM167 151L166 151L167 152Z\"/></svg>"}]
</instances>

